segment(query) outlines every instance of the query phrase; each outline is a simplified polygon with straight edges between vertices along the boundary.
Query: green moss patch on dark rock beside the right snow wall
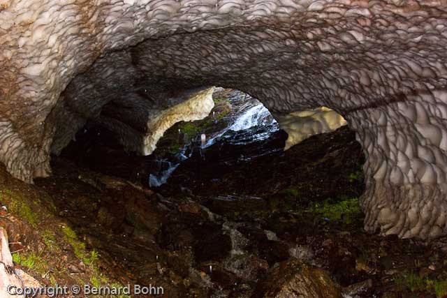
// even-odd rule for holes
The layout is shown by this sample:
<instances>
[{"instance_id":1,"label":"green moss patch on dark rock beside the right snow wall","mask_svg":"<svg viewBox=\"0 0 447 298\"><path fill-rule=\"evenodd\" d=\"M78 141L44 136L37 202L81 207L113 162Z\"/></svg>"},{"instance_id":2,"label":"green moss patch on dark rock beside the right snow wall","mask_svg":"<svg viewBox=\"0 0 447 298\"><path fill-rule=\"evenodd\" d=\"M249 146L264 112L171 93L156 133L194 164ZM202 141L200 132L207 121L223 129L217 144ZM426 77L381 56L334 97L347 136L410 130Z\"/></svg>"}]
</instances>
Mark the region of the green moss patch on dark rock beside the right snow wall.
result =
<instances>
[{"instance_id":1,"label":"green moss patch on dark rock beside the right snow wall","mask_svg":"<svg viewBox=\"0 0 447 298\"><path fill-rule=\"evenodd\" d=\"M358 198L348 198L339 202L330 202L330 200L325 200L323 203L315 202L307 211L320 215L323 221L346 225L352 223L360 214Z\"/></svg>"}]
</instances>

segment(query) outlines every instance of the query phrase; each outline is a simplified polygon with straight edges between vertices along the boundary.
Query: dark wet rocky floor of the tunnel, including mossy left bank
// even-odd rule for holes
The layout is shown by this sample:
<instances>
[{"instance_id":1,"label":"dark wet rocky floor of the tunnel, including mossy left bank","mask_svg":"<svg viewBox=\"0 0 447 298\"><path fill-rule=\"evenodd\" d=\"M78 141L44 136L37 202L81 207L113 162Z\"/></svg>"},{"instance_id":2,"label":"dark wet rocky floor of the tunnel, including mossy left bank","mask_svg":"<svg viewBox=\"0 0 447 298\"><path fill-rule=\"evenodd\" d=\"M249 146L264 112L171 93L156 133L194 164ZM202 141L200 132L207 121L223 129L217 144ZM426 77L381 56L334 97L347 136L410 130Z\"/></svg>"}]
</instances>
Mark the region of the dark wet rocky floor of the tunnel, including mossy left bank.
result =
<instances>
[{"instance_id":1,"label":"dark wet rocky floor of the tunnel, including mossy left bank","mask_svg":"<svg viewBox=\"0 0 447 298\"><path fill-rule=\"evenodd\" d=\"M285 152L281 131L196 149L150 190L153 160L94 133L35 185L0 167L0 225L15 266L42 284L156 285L161 297L447 297L446 239L362 230L363 156L346 127Z\"/></svg>"}]
</instances>

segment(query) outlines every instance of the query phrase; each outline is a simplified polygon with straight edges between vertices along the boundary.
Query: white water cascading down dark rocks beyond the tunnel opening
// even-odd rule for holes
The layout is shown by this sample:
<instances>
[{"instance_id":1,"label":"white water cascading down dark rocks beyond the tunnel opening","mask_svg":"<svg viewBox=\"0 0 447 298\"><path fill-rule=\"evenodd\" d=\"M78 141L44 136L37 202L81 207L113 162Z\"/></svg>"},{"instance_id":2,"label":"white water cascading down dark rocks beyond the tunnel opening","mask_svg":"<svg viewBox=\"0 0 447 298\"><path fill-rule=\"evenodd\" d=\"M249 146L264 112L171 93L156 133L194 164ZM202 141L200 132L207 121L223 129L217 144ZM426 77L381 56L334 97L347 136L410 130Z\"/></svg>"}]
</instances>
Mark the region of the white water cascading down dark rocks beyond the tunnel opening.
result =
<instances>
[{"instance_id":1,"label":"white water cascading down dark rocks beyond the tunnel opening","mask_svg":"<svg viewBox=\"0 0 447 298\"><path fill-rule=\"evenodd\" d=\"M249 144L267 139L272 133L279 130L277 121L262 103L248 94L240 91L232 91L227 98L232 105L232 110L221 121L226 126L220 131L209 133L202 142L201 148L227 142L230 144ZM203 137L200 136L199 137ZM157 170L149 174L149 187L165 184L170 175L186 158L191 157L194 144L185 144L175 155L177 161L161 159L157 161Z\"/></svg>"}]
</instances>

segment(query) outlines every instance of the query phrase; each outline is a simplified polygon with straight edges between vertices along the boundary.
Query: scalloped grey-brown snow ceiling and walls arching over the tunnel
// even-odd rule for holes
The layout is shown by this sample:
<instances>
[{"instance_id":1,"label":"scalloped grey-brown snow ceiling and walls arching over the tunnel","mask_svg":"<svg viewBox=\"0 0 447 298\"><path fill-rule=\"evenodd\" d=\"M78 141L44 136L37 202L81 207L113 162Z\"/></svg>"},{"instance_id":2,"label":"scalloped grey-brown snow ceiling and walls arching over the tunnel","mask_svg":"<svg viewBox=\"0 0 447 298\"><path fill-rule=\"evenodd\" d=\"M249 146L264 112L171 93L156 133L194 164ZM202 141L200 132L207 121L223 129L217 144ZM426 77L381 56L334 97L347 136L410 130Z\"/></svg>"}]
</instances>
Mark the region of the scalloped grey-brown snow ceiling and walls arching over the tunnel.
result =
<instances>
[{"instance_id":1,"label":"scalloped grey-brown snow ceiling and walls arching over the tunnel","mask_svg":"<svg viewBox=\"0 0 447 298\"><path fill-rule=\"evenodd\" d=\"M147 135L186 90L219 85L278 119L342 114L367 157L365 229L437 237L446 25L441 0L0 0L0 160L31 182L88 119Z\"/></svg>"}]
</instances>

